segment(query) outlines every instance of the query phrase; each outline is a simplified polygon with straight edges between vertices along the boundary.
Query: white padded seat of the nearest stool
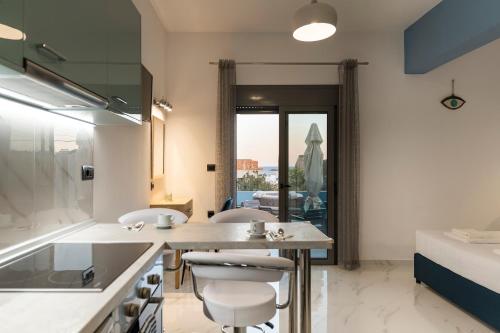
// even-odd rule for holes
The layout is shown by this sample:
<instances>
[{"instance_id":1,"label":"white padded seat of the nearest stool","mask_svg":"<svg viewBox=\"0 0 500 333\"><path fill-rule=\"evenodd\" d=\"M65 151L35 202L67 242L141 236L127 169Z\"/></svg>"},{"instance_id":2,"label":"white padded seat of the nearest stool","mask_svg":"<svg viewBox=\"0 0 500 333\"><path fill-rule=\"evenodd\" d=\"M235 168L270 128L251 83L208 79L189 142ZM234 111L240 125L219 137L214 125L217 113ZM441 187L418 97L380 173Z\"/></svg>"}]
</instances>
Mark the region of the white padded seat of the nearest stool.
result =
<instances>
[{"instance_id":1,"label":"white padded seat of the nearest stool","mask_svg":"<svg viewBox=\"0 0 500 333\"><path fill-rule=\"evenodd\" d=\"M276 292L264 282L212 281L203 298L205 315L220 325L260 325L276 313Z\"/></svg>"}]
</instances>

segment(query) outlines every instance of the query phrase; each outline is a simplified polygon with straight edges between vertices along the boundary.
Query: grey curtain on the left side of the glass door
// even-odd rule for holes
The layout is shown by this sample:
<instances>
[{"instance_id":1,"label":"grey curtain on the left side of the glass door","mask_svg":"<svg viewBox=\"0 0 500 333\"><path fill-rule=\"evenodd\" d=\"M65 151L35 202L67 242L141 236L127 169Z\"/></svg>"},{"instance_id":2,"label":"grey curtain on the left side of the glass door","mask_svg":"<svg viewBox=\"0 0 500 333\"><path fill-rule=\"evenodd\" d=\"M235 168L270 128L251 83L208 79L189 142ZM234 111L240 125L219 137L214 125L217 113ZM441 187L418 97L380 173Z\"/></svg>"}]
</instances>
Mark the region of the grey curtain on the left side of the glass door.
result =
<instances>
[{"instance_id":1,"label":"grey curtain on the left side of the glass door","mask_svg":"<svg viewBox=\"0 0 500 333\"><path fill-rule=\"evenodd\" d=\"M217 91L217 156L215 175L216 209L222 208L228 197L236 195L236 64L234 60L219 60Z\"/></svg>"}]
</instances>

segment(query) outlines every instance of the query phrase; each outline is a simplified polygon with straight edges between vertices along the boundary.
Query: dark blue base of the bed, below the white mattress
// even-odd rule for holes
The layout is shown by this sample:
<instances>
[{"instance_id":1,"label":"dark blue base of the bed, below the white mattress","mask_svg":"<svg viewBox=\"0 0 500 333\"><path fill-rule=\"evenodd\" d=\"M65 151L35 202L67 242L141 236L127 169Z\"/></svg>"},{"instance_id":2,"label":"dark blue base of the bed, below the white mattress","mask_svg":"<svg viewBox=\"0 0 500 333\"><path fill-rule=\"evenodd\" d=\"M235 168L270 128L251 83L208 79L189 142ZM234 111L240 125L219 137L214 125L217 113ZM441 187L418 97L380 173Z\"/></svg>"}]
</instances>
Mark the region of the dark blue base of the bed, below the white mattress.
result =
<instances>
[{"instance_id":1,"label":"dark blue base of the bed, below the white mattress","mask_svg":"<svg viewBox=\"0 0 500 333\"><path fill-rule=\"evenodd\" d=\"M438 294L500 332L500 294L487 289L419 253L414 257L414 275ZM500 276L498 277L500 279Z\"/></svg>"}]
</instances>

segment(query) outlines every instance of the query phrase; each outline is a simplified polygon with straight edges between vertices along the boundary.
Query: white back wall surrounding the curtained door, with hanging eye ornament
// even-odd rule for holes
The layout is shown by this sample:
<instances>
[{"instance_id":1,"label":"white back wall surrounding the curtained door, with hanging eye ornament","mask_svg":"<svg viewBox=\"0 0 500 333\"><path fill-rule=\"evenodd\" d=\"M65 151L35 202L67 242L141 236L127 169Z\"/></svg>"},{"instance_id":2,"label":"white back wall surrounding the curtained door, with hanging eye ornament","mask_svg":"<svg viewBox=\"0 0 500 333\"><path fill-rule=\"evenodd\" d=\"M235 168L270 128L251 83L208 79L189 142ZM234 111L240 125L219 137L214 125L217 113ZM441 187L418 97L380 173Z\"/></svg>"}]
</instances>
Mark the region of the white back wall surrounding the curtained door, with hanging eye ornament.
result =
<instances>
[{"instance_id":1,"label":"white back wall surrounding the curtained door, with hanging eye ornament","mask_svg":"<svg viewBox=\"0 0 500 333\"><path fill-rule=\"evenodd\" d=\"M369 61L359 72L361 256L409 259L416 229L483 227L500 218L500 41L407 76L402 33L350 33L316 44L289 34L168 33L167 191L214 207L217 66L209 60ZM467 104L447 111L451 79ZM239 84L333 84L334 67L240 66Z\"/></svg>"}]
</instances>

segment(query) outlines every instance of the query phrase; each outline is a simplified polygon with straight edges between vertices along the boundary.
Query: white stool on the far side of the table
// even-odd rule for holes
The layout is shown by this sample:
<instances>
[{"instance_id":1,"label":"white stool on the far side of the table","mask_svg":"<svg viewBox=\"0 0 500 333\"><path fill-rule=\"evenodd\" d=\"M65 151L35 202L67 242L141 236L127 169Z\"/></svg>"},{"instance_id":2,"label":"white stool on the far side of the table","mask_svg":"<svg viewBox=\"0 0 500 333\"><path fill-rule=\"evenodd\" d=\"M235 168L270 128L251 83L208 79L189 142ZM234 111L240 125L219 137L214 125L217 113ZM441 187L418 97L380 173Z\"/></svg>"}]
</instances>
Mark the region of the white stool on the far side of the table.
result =
<instances>
[{"instance_id":1,"label":"white stool on the far side of the table","mask_svg":"<svg viewBox=\"0 0 500 333\"><path fill-rule=\"evenodd\" d=\"M229 209L215 214L210 218L213 223L249 223L251 220L263 220L266 222L279 222L279 219L271 213L253 208ZM266 249L253 250L228 250L223 249L220 252L245 254L250 256L270 256L271 252Z\"/></svg>"}]
</instances>

